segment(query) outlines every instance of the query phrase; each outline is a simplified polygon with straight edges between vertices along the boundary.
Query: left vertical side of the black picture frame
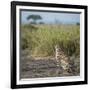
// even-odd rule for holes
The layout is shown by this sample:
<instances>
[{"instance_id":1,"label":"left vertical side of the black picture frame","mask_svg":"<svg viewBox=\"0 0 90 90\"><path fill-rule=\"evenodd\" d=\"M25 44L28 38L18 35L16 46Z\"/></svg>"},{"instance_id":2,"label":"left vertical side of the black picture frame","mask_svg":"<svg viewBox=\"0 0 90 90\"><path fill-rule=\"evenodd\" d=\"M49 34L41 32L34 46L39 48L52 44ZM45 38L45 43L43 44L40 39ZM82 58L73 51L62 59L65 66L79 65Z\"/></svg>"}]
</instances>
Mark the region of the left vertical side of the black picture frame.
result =
<instances>
[{"instance_id":1,"label":"left vertical side of the black picture frame","mask_svg":"<svg viewBox=\"0 0 90 90\"><path fill-rule=\"evenodd\" d=\"M16 88L16 5L11 2L11 88Z\"/></svg>"}]
</instances>

